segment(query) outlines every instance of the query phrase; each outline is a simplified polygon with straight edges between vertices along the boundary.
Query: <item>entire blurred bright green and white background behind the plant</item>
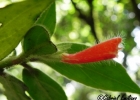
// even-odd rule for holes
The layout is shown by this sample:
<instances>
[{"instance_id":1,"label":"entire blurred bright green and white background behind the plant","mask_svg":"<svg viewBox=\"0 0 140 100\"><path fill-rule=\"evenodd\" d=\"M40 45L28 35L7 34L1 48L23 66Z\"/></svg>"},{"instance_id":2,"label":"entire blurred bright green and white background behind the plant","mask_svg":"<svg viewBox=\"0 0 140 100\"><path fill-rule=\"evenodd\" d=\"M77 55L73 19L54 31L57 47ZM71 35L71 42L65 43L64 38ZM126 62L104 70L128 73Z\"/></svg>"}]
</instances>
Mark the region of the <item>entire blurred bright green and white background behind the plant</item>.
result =
<instances>
[{"instance_id":1,"label":"entire blurred bright green and white background behind the plant","mask_svg":"<svg viewBox=\"0 0 140 100\"><path fill-rule=\"evenodd\" d=\"M2 1L0 7L5 5ZM55 44L76 42L92 46L111 37L122 36L124 48L114 60L121 63L140 86L140 0L56 0L56 19L56 30L51 38ZM16 50L21 51L20 45ZM97 100L100 94L126 94L140 100L137 94L93 89L65 78L44 64L32 64L56 80L69 100ZM22 78L20 66L9 70L14 76ZM0 100L6 100L6 97L0 95Z\"/></svg>"}]
</instances>

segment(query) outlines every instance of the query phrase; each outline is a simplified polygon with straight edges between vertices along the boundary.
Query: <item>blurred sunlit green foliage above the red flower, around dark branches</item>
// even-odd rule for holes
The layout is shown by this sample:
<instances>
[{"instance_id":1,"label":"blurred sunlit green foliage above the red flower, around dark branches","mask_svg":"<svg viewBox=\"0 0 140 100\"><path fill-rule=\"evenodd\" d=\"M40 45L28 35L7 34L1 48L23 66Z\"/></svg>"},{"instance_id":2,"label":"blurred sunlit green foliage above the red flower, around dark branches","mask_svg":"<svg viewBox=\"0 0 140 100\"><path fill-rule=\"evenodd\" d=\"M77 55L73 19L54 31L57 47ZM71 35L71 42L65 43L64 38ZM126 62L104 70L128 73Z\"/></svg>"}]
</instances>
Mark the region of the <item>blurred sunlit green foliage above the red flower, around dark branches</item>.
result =
<instances>
[{"instance_id":1,"label":"blurred sunlit green foliage above the red flower, around dark branches","mask_svg":"<svg viewBox=\"0 0 140 100\"><path fill-rule=\"evenodd\" d=\"M57 27L54 34L55 40L90 42L94 43L91 28L96 30L100 41L108 38L110 34L125 35L129 41L133 42L131 37L132 30L139 25L136 14L133 10L131 1L125 0L93 0L93 16L95 27L91 27L86 20L82 19L79 13L87 18L90 16L91 0L72 0L80 11L76 10L70 0L56 0L57 4ZM138 3L137 3L138 4ZM134 43L133 46L134 47Z\"/></svg>"}]
</instances>

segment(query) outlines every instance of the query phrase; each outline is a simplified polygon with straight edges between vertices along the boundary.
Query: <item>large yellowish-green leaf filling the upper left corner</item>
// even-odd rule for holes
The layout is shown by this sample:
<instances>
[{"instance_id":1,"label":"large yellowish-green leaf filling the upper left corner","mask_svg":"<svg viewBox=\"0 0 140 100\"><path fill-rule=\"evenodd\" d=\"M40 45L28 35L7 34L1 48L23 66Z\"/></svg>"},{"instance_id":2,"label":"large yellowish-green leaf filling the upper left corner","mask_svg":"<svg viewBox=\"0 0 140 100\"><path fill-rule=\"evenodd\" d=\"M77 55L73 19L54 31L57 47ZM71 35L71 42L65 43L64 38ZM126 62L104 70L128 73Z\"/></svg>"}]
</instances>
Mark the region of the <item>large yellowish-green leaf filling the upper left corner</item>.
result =
<instances>
[{"instance_id":1,"label":"large yellowish-green leaf filling the upper left corner","mask_svg":"<svg viewBox=\"0 0 140 100\"><path fill-rule=\"evenodd\" d=\"M26 32L54 0L26 0L0 9L0 60L21 41Z\"/></svg>"}]
</instances>

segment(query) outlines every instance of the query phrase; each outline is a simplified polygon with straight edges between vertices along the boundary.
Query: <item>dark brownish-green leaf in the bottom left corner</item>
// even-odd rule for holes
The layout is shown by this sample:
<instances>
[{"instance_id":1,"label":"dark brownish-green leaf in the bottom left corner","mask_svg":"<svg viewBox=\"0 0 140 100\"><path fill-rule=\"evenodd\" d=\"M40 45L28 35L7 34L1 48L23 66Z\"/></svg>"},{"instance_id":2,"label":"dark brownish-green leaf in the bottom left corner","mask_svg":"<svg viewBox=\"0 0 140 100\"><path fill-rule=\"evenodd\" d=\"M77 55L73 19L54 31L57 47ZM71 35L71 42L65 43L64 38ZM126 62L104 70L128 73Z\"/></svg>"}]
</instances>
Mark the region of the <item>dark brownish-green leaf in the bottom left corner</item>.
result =
<instances>
[{"instance_id":1,"label":"dark brownish-green leaf in the bottom left corner","mask_svg":"<svg viewBox=\"0 0 140 100\"><path fill-rule=\"evenodd\" d=\"M0 76L0 83L4 87L4 94L8 100L31 100L25 95L25 85L13 76Z\"/></svg>"}]
</instances>

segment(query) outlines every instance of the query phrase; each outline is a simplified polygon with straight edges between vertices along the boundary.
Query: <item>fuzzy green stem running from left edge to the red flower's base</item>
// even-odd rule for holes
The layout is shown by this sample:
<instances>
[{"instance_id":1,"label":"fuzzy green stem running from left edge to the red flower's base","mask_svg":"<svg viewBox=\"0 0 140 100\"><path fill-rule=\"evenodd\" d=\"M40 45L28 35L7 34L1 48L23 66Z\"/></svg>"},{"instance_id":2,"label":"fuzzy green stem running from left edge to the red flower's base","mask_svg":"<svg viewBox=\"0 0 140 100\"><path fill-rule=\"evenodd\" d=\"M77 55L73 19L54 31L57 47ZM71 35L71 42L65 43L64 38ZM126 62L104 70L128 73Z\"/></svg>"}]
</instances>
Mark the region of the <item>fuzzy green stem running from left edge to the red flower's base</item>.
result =
<instances>
[{"instance_id":1,"label":"fuzzy green stem running from left edge to the red flower's base","mask_svg":"<svg viewBox=\"0 0 140 100\"><path fill-rule=\"evenodd\" d=\"M56 53L55 55L42 55L42 56L38 56L38 55L30 55L30 52L28 53L22 53L19 56L16 57L9 57L7 59L4 59L2 61L0 61L0 69L3 68L8 68L11 67L13 65L17 65L17 64L25 64L28 61L60 61L61 56L60 54Z\"/></svg>"}]
</instances>

